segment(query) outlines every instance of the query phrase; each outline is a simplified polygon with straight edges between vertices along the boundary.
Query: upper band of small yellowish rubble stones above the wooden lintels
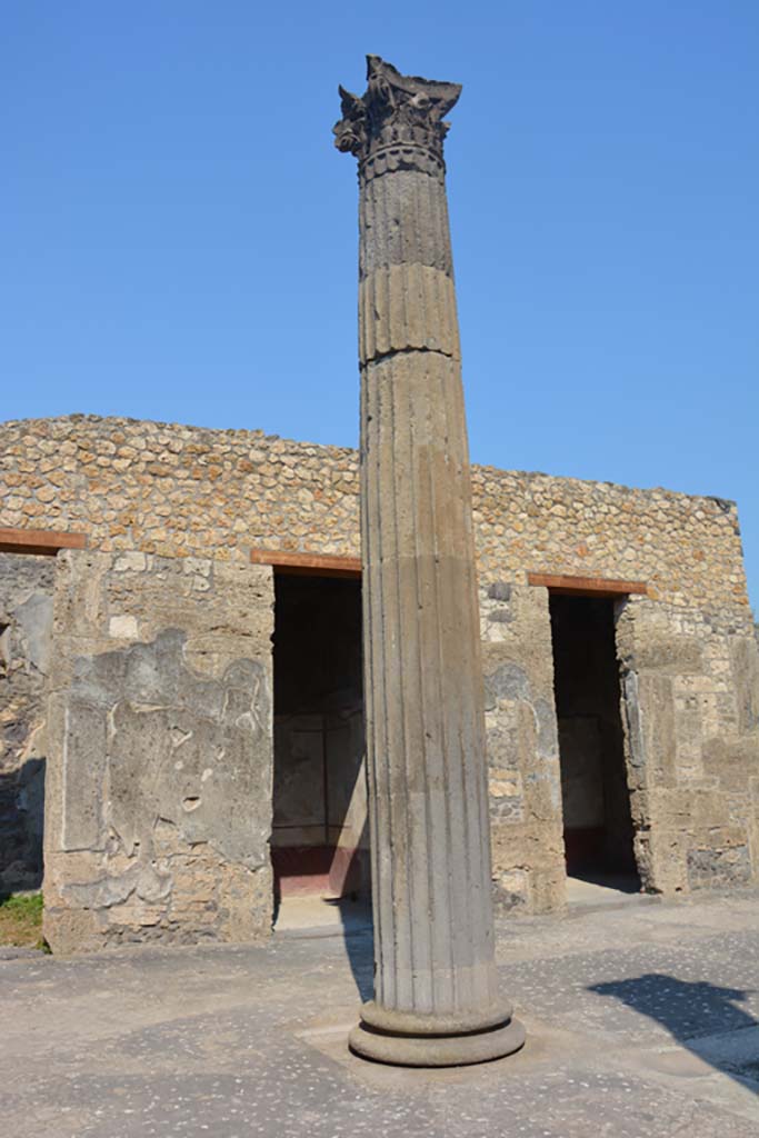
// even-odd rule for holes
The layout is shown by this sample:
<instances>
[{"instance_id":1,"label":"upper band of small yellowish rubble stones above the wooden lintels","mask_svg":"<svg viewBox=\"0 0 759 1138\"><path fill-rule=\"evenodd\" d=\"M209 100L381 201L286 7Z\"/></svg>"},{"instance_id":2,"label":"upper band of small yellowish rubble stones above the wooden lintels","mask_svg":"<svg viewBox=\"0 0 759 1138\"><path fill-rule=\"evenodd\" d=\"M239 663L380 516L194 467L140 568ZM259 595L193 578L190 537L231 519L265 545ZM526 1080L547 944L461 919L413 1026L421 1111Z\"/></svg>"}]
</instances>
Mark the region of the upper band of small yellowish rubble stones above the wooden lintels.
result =
<instances>
[{"instance_id":1,"label":"upper band of small yellowish rubble stones above the wooden lintels","mask_svg":"<svg viewBox=\"0 0 759 1138\"><path fill-rule=\"evenodd\" d=\"M745 609L735 504L472 469L482 583L528 570L649 583L678 607ZM251 547L356 555L354 451L261 431L72 415L0 426L0 525L90 547L247 561Z\"/></svg>"}]
</instances>

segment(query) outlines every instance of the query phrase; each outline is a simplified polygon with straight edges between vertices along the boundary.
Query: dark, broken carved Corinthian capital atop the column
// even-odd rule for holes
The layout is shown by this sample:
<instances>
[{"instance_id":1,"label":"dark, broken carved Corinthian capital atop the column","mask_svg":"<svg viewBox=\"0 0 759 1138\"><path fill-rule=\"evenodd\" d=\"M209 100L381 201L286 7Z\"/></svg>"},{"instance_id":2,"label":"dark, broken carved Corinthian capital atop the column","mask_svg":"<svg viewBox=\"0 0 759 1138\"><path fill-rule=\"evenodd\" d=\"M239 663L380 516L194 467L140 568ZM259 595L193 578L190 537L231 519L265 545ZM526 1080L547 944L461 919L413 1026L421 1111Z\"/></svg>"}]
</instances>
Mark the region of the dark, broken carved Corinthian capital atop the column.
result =
<instances>
[{"instance_id":1,"label":"dark, broken carved Corinthian capital atop the column","mask_svg":"<svg viewBox=\"0 0 759 1138\"><path fill-rule=\"evenodd\" d=\"M362 98L339 88L343 118L333 126L338 150L355 155L361 163L402 147L429 151L442 163L448 131L443 117L459 99L461 86L402 75L379 56L366 56L366 80Z\"/></svg>"}]
</instances>

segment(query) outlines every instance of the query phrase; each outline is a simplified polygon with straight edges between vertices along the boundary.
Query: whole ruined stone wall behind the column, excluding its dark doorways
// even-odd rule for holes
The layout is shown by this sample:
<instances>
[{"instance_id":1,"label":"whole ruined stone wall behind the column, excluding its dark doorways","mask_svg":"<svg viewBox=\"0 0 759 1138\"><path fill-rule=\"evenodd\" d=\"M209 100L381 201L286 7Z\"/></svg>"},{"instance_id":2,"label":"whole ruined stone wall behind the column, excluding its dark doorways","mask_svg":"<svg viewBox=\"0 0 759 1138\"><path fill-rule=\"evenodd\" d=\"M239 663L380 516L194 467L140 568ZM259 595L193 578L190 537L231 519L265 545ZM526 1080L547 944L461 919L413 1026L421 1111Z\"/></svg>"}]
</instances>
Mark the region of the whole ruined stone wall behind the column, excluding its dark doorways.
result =
<instances>
[{"instance_id":1,"label":"whole ruined stone wall behind the column, excluding its dark doorways","mask_svg":"<svg viewBox=\"0 0 759 1138\"><path fill-rule=\"evenodd\" d=\"M529 584L545 579L530 574L645 585L644 595L616 605L643 885L673 893L756 881L759 675L734 503L478 467L472 493L496 905L545 912L564 896L548 589ZM3 544L3 533L30 529L84 535L88 550L57 559L3 552L24 547L18 535L15 546ZM254 550L355 559L355 452L258 431L96 417L0 426L0 644L11 659L8 666L0 655L0 774L3 810L15 818L3 827L15 836L13 848L7 839L0 844L0 872L13 861L14 880L27 871L24 880L34 880L39 835L26 843L22 831L40 816L39 786L27 792L23 772L33 774L30 760L47 757L46 893L59 948L249 939L269 927L270 712L263 688L250 694L253 674L246 684L256 741L217 712L180 725L174 740L192 732L174 759L189 748L191 762L179 770L190 770L187 782L157 774L149 782L151 768L174 767L166 766L165 739L146 750L146 741L172 731L167 720L158 729L148 711L130 710L119 727L122 740L139 734L141 751L117 745L117 742L106 737L105 750L96 749L96 761L91 732L75 731L82 701L113 723L116 708L124 716L142 707L123 678L137 660L151 661L162 714L178 723L193 684L211 685L217 706L236 668L253 662L269 675L272 571L250 564ZM239 576L229 576L233 570ZM234 620L224 616L231 611ZM204 643L207 651L188 648ZM242 832L218 799L190 786L228 739L230 754L249 757L244 793L253 830ZM104 781L104 762L123 767L127 753L141 756L127 783L142 797L115 797ZM231 778L238 759L229 761L220 775ZM84 830L61 785L66 764L66 777L80 780L94 803ZM209 781L201 789L211 790ZM150 811L168 822L156 830L143 817ZM109 818L118 819L117 841Z\"/></svg>"}]
</instances>

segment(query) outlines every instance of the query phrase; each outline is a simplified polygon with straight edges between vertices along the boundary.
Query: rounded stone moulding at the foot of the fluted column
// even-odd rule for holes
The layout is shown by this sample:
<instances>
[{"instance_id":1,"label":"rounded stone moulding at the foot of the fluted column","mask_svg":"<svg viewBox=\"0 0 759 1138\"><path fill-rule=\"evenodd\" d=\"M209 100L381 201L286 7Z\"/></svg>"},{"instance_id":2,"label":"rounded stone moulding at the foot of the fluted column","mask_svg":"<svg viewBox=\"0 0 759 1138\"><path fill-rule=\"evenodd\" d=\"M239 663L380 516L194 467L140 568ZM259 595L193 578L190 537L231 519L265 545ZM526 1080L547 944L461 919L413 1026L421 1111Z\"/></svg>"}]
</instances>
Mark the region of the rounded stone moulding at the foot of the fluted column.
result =
<instances>
[{"instance_id":1,"label":"rounded stone moulding at the foot of the fluted column","mask_svg":"<svg viewBox=\"0 0 759 1138\"><path fill-rule=\"evenodd\" d=\"M370 1020L383 1019L376 1005L365 1005L366 1015L348 1037L350 1050L362 1058L396 1066L465 1066L487 1063L518 1052L525 1044L525 1029L519 1020L508 1016L497 1023L486 1023L470 1030L430 1031L424 1016L404 1015L404 1030L379 1026ZM380 1012L380 1015L377 1013ZM418 1019L419 1030L412 1021Z\"/></svg>"}]
</instances>

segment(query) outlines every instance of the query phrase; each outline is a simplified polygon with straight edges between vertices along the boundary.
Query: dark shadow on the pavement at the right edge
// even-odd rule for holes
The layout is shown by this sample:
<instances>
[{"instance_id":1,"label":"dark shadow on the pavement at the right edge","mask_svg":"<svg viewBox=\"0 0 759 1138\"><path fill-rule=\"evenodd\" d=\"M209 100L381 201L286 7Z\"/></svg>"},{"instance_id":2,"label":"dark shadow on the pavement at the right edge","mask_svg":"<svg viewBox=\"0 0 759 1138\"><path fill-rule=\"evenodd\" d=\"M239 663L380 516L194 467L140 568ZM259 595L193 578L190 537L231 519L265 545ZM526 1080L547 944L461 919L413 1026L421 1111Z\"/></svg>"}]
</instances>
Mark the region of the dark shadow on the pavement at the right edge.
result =
<instances>
[{"instance_id":1,"label":"dark shadow on the pavement at the right edge","mask_svg":"<svg viewBox=\"0 0 759 1138\"><path fill-rule=\"evenodd\" d=\"M754 989L720 988L704 980L678 980L651 972L628 980L591 984L587 991L612 996L626 1007L655 1020L692 1054L759 1094L759 1033L756 1050L749 1054L740 1040L725 1039L721 1044L706 1045L707 1037L759 1028L759 1020L739 1006L754 993Z\"/></svg>"}]
</instances>

